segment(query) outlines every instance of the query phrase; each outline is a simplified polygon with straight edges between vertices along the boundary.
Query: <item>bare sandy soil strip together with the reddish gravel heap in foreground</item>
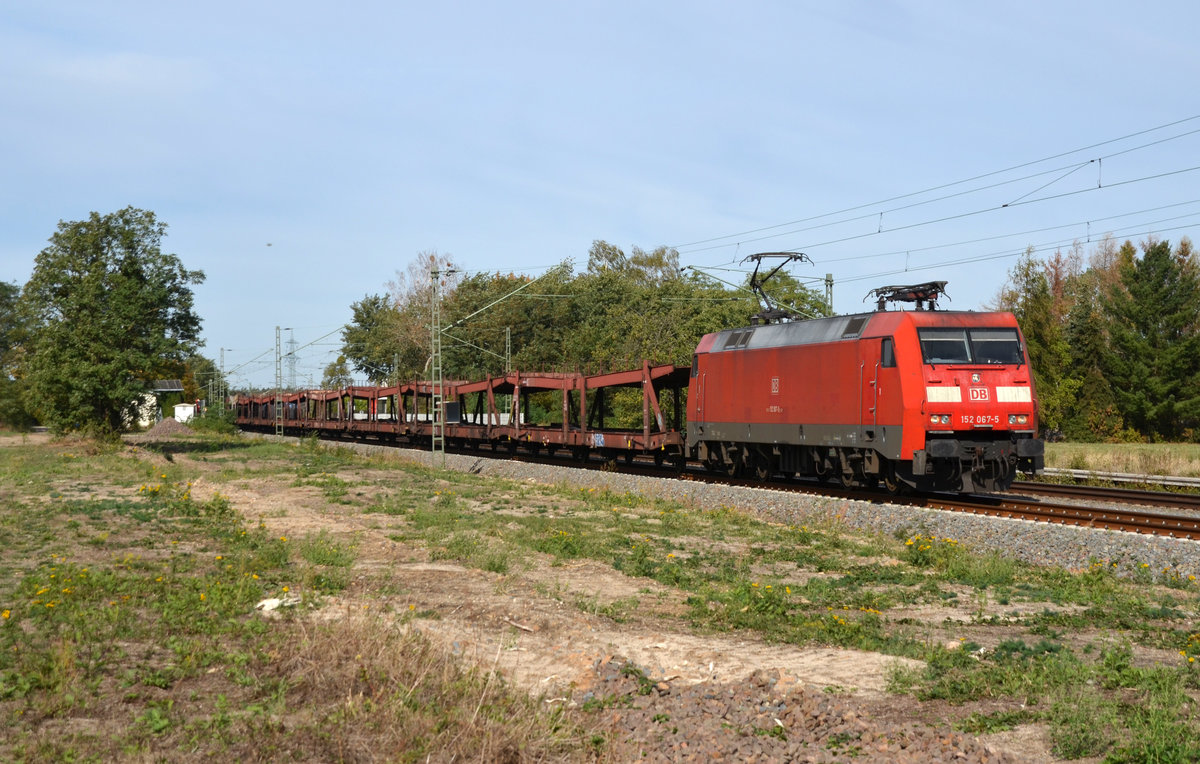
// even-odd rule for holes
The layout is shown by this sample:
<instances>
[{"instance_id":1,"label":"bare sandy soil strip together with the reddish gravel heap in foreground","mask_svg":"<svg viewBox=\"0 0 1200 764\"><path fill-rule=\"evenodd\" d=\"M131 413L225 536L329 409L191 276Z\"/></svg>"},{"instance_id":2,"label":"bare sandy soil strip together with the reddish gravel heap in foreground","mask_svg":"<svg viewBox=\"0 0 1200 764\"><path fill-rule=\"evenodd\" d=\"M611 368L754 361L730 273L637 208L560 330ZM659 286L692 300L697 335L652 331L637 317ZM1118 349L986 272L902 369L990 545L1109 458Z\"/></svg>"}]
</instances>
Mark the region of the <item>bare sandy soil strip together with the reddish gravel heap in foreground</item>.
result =
<instances>
[{"instance_id":1,"label":"bare sandy soil strip together with the reddish gravel heap in foreground","mask_svg":"<svg viewBox=\"0 0 1200 764\"><path fill-rule=\"evenodd\" d=\"M202 474L217 469L186 456L179 461ZM350 585L313 618L406 616L409 627L467 661L499 669L546 703L578 706L628 694L632 706L614 706L604 717L613 739L624 741L625 747L611 752L616 760L647 751L656 752L656 760L854 756L919 762L943 754L960 762L1051 760L1040 738L1010 735L1006 751L997 751L995 744L949 732L946 720L971 709L918 718L924 715L914 712L912 698L886 694L888 672L916 661L769 644L744 634L697 634L679 618L684 592L596 563L554 565L548 557L530 555L520 570L499 574L432 560L425 548L389 537L395 529L388 516L330 503L319 491L286 479L220 486L202 479L192 488L202 499L217 489L247 522L263 523L272 534L299 539L325 531L354 545ZM967 616L953 610L907 614L935 624L947 615ZM613 669L625 666L652 678L653 691L631 692L629 682L636 679ZM787 726L791 735L774 734L776 726ZM817 736L797 735L803 729ZM714 735L730 740L716 742ZM839 747L848 740L865 742ZM953 758L955 752L970 756Z\"/></svg>"}]
</instances>

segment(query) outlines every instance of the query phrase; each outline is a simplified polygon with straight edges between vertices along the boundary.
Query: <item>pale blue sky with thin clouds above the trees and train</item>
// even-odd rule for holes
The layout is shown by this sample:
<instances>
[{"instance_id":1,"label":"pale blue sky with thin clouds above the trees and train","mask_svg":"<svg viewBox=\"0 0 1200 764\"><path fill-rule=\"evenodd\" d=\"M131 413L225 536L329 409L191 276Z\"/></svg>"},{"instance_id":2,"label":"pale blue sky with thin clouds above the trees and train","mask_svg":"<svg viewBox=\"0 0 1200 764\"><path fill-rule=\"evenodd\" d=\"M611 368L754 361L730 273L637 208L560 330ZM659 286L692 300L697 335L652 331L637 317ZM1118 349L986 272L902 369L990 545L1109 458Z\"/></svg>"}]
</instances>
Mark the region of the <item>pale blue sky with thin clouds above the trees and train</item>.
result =
<instances>
[{"instance_id":1,"label":"pale blue sky with thin clouds above the trees and train","mask_svg":"<svg viewBox=\"0 0 1200 764\"><path fill-rule=\"evenodd\" d=\"M1198 22L1153 0L10 0L0 279L60 219L154 210L208 275L204 354L259 385L276 325L334 332L428 251L539 273L595 239L701 267L798 248L839 312L935 278L979 308L1031 245L1195 237Z\"/></svg>"}]
</instances>

